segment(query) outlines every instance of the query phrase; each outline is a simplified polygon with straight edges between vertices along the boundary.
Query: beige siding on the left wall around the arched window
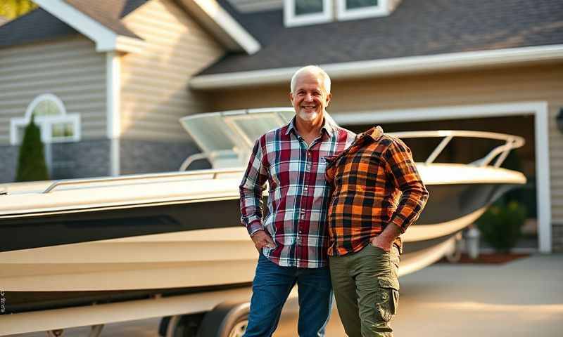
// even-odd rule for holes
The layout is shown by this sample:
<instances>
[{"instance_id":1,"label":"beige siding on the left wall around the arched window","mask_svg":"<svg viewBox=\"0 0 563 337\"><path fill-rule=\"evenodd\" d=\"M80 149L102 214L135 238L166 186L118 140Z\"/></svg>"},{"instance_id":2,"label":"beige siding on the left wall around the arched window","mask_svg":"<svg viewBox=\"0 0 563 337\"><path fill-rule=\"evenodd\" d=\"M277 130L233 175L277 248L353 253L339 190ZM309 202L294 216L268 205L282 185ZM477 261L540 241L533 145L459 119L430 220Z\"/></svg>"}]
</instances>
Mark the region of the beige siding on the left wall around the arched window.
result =
<instances>
[{"instance_id":1,"label":"beige siding on the left wall around the arched window","mask_svg":"<svg viewBox=\"0 0 563 337\"><path fill-rule=\"evenodd\" d=\"M71 37L0 49L0 145L10 143L10 119L44 93L80 114L82 139L106 136L106 54L92 41Z\"/></svg>"}]
</instances>

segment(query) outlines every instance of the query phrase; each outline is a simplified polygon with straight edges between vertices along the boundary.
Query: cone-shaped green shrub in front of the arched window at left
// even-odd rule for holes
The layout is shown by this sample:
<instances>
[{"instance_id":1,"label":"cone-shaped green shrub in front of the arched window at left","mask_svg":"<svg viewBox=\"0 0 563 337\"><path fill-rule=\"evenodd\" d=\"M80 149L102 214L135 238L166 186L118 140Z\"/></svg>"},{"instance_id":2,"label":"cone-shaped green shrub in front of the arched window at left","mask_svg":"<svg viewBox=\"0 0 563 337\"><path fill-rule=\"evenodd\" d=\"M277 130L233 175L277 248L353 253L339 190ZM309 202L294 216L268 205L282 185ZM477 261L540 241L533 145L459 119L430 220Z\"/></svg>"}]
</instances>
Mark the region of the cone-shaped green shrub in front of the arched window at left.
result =
<instances>
[{"instance_id":1,"label":"cone-shaped green shrub in front of the arched window at left","mask_svg":"<svg viewBox=\"0 0 563 337\"><path fill-rule=\"evenodd\" d=\"M41 131L33 119L32 115L30 124L25 127L15 181L49 180Z\"/></svg>"}]
</instances>

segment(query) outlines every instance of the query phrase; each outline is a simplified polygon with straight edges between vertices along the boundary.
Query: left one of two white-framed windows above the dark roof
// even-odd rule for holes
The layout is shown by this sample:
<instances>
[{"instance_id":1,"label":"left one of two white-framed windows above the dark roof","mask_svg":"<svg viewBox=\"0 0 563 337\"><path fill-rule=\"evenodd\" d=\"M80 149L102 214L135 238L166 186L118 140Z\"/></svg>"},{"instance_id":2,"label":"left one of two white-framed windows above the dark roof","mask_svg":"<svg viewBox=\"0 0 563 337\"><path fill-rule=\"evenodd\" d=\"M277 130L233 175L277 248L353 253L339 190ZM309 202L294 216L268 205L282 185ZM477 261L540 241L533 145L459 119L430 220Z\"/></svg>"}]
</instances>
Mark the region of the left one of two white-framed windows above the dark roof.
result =
<instances>
[{"instance_id":1,"label":"left one of two white-framed windows above the dark roof","mask_svg":"<svg viewBox=\"0 0 563 337\"><path fill-rule=\"evenodd\" d=\"M286 27L329 22L332 16L332 0L284 1Z\"/></svg>"}]
</instances>

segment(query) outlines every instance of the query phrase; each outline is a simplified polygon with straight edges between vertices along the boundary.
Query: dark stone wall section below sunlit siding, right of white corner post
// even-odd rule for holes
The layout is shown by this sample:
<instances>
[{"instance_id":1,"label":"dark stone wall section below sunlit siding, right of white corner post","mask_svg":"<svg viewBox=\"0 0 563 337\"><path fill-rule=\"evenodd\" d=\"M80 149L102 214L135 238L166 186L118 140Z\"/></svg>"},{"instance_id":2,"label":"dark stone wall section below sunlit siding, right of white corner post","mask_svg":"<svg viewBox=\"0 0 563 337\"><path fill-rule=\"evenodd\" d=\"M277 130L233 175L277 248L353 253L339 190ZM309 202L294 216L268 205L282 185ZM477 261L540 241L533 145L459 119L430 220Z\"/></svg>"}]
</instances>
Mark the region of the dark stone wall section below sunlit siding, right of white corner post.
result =
<instances>
[{"instance_id":1,"label":"dark stone wall section below sunlit siding, right of white corner post","mask_svg":"<svg viewBox=\"0 0 563 337\"><path fill-rule=\"evenodd\" d=\"M178 171L191 154L199 153L190 141L120 140L120 173L156 173ZM189 169L209 169L207 161L196 161Z\"/></svg>"}]
</instances>

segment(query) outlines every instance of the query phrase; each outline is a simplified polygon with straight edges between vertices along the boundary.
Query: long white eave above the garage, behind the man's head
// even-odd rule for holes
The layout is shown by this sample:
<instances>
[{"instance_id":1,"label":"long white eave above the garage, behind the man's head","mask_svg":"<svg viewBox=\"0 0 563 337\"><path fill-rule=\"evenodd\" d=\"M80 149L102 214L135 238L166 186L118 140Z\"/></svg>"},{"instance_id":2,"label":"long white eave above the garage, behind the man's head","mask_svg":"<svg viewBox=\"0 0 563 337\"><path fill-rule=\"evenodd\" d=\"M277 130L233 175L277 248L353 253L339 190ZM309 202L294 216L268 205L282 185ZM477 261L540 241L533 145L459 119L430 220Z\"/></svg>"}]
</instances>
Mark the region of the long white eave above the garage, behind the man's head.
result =
<instances>
[{"instance_id":1,"label":"long white eave above the garage, behind the man's head","mask_svg":"<svg viewBox=\"0 0 563 337\"><path fill-rule=\"evenodd\" d=\"M320 65L320 67L330 75L331 79L362 79L548 60L563 60L563 44L410 56L384 60L328 63ZM199 75L191 79L189 86L198 90L213 90L264 84L283 84L289 81L293 72L298 70L298 68L285 67Z\"/></svg>"}]
</instances>

